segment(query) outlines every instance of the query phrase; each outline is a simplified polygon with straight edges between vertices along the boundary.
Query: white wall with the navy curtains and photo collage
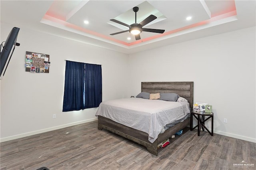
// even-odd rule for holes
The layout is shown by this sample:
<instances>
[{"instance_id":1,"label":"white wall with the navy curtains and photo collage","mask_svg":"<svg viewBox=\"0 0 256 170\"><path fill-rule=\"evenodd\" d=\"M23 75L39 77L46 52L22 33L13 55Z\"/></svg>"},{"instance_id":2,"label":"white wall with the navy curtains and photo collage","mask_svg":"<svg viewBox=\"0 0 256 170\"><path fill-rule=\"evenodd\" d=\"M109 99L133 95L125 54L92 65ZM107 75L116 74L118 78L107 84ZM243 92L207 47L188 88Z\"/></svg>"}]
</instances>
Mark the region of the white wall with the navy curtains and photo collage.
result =
<instances>
[{"instance_id":1,"label":"white wall with the navy curtains and photo collage","mask_svg":"<svg viewBox=\"0 0 256 170\"><path fill-rule=\"evenodd\" d=\"M1 23L1 42L13 26ZM102 100L127 97L128 55L20 28L1 84L1 141L97 120L97 109L62 112L65 59L102 65ZM50 55L50 73L25 72L26 51ZM56 119L53 119L56 114Z\"/></svg>"}]
</instances>

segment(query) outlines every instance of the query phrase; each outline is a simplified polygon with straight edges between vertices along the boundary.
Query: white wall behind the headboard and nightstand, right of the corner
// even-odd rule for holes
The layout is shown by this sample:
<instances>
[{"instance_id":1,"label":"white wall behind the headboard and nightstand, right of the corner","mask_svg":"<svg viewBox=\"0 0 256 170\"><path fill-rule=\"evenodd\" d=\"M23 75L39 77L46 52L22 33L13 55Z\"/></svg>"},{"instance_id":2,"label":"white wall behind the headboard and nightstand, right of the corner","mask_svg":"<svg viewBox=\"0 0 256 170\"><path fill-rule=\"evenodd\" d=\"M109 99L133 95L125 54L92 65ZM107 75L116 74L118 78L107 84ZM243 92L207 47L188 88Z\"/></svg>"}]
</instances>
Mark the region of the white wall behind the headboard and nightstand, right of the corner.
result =
<instances>
[{"instance_id":1,"label":"white wall behind the headboard and nightstand, right of the corner","mask_svg":"<svg viewBox=\"0 0 256 170\"><path fill-rule=\"evenodd\" d=\"M130 55L130 95L142 81L194 81L194 103L212 105L215 133L256 142L255 42L252 27Z\"/></svg>"}]
</instances>

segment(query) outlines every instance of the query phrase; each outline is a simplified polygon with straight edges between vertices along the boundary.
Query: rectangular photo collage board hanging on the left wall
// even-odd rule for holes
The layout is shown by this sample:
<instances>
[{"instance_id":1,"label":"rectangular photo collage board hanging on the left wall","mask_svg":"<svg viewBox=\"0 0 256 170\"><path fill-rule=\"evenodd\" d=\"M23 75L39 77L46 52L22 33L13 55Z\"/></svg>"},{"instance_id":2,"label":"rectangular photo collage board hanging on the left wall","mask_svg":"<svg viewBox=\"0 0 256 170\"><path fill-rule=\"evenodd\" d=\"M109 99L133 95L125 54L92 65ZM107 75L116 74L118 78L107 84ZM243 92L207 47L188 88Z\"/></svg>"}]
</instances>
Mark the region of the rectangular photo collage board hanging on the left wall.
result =
<instances>
[{"instance_id":1,"label":"rectangular photo collage board hanging on the left wall","mask_svg":"<svg viewBox=\"0 0 256 170\"><path fill-rule=\"evenodd\" d=\"M26 51L25 68L30 73L49 73L50 55Z\"/></svg>"}]
</instances>

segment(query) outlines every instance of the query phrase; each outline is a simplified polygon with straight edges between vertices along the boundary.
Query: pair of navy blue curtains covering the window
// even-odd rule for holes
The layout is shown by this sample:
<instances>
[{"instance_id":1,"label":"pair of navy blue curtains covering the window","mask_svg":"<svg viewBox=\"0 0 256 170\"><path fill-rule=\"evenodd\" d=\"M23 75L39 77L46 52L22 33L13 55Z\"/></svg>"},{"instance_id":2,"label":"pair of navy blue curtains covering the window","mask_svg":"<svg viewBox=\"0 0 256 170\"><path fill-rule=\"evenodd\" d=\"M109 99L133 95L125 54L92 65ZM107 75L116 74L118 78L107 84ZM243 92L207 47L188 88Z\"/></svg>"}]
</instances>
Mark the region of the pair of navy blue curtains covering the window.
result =
<instances>
[{"instance_id":1,"label":"pair of navy blue curtains covering the window","mask_svg":"<svg viewBox=\"0 0 256 170\"><path fill-rule=\"evenodd\" d=\"M101 102L101 65L66 61L62 111L98 107Z\"/></svg>"}]
</instances>

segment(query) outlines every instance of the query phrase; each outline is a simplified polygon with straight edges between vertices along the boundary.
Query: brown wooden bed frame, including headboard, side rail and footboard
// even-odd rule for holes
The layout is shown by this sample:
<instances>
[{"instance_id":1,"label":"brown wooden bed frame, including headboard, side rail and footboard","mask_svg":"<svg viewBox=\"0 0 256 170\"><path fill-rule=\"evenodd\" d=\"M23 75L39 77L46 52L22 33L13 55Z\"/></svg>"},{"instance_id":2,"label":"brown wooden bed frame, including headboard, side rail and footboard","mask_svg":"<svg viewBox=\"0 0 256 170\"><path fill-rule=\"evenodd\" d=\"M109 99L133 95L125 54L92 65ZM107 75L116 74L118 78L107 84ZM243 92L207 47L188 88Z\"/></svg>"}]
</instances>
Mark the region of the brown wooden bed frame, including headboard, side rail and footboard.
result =
<instances>
[{"instance_id":1,"label":"brown wooden bed frame, including headboard, side rail and footboard","mask_svg":"<svg viewBox=\"0 0 256 170\"><path fill-rule=\"evenodd\" d=\"M184 97L190 103L190 109L193 108L193 90L194 82L142 82L141 91L148 93L176 93L180 97ZM108 118L98 116L98 129L105 128L113 133L130 139L138 144L146 146L148 151L154 155L158 154L157 145L167 138L174 135L179 130L190 125L190 118L168 128L164 133L158 135L158 138L151 143L148 141L148 134L140 130L136 130L120 123L116 123Z\"/></svg>"}]
</instances>

